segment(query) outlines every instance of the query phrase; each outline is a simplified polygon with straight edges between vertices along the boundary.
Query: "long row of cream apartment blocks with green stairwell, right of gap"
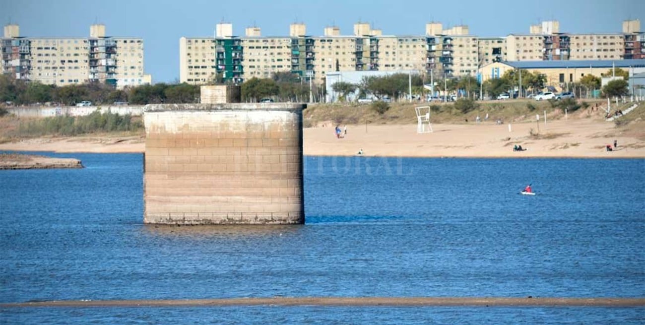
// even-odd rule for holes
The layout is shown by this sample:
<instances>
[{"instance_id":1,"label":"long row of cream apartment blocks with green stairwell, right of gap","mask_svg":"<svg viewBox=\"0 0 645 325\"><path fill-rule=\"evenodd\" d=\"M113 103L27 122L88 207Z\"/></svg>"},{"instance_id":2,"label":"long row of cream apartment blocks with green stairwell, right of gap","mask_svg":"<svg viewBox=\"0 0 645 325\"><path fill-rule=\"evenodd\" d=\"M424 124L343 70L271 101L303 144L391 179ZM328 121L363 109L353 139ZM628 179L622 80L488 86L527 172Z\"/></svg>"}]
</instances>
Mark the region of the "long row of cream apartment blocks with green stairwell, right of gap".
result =
<instances>
[{"instance_id":1,"label":"long row of cream apartment blocks with green stairwell, right of gap","mask_svg":"<svg viewBox=\"0 0 645 325\"><path fill-rule=\"evenodd\" d=\"M241 83L291 72L320 83L327 72L417 70L453 77L476 75L479 67L499 61L620 60L645 58L640 21L625 21L620 34L567 34L558 21L531 25L528 34L477 37L465 25L444 29L426 24L424 35L382 35L368 23L356 23L353 35L337 26L322 36L306 25L290 25L288 36L262 36L261 28L233 35L230 23L216 26L214 37L182 37L180 79L201 84L223 79Z\"/></svg>"}]
</instances>

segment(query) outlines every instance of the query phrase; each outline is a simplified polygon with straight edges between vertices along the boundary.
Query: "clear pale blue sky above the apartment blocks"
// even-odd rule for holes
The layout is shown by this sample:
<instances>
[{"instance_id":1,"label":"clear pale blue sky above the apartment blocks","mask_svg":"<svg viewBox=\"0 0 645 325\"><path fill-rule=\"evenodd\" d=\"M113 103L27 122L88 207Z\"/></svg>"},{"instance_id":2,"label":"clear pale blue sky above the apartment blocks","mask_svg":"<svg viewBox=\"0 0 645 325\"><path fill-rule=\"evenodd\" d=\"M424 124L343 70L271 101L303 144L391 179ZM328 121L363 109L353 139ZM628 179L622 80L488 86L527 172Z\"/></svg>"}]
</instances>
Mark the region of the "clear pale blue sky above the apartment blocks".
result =
<instances>
[{"instance_id":1,"label":"clear pale blue sky above the apartment blocks","mask_svg":"<svg viewBox=\"0 0 645 325\"><path fill-rule=\"evenodd\" d=\"M560 21L561 32L617 33L625 19L640 19L645 29L645 0L0 0L0 19L19 24L23 36L88 37L98 22L108 35L141 37L144 70L156 83L179 78L180 37L212 36L223 20L236 35L252 25L263 35L288 35L295 21L310 35L322 35L328 25L352 34L357 21L384 35L422 35L426 23L441 21L468 25L473 35L504 36L551 19Z\"/></svg>"}]
</instances>

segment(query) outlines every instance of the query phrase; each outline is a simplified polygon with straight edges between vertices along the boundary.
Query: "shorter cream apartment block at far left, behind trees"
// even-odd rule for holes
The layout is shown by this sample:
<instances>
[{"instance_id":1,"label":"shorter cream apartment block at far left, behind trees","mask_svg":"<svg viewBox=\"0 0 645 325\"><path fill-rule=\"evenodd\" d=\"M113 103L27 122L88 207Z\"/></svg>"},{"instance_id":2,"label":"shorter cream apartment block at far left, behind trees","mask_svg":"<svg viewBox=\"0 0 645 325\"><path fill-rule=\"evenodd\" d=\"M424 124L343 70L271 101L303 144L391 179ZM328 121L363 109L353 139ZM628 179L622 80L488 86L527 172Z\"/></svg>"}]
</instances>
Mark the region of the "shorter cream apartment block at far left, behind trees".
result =
<instances>
[{"instance_id":1,"label":"shorter cream apartment block at far left, behind trees","mask_svg":"<svg viewBox=\"0 0 645 325\"><path fill-rule=\"evenodd\" d=\"M88 38L21 37L18 25L6 25L0 46L2 72L16 79L117 88L151 83L143 70L143 40L106 36L104 25L90 26Z\"/></svg>"}]
</instances>

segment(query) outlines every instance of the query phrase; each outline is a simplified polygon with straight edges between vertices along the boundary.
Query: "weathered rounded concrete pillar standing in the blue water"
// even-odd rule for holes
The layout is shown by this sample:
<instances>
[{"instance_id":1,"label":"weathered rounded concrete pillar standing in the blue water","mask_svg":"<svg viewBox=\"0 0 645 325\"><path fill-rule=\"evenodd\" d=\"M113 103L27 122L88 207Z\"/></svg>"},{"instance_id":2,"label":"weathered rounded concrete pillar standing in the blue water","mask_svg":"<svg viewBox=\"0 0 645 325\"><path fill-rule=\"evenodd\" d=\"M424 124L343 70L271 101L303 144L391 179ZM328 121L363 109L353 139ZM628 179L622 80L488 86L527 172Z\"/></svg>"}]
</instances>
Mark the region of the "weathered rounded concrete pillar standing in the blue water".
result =
<instances>
[{"instance_id":1,"label":"weathered rounded concrete pillar standing in the blue water","mask_svg":"<svg viewBox=\"0 0 645 325\"><path fill-rule=\"evenodd\" d=\"M305 107L146 105L144 222L303 223Z\"/></svg>"}]
</instances>

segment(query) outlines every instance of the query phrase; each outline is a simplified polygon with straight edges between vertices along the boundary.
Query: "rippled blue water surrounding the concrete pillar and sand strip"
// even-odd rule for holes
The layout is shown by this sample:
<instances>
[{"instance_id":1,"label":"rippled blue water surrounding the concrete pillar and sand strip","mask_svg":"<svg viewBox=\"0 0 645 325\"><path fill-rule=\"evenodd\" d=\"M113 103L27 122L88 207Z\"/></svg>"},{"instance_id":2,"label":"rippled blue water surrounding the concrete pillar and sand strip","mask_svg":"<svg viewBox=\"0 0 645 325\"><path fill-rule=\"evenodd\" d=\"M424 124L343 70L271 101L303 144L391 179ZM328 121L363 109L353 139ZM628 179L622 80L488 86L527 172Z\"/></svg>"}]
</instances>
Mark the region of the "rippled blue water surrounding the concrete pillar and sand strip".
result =
<instances>
[{"instance_id":1,"label":"rippled blue water surrounding the concrete pillar and sand strip","mask_svg":"<svg viewBox=\"0 0 645 325\"><path fill-rule=\"evenodd\" d=\"M144 225L139 154L0 171L0 302L645 297L645 160L307 157L303 226ZM519 195L531 183L538 194ZM66 324L645 323L645 308L5 308Z\"/></svg>"}]
</instances>

